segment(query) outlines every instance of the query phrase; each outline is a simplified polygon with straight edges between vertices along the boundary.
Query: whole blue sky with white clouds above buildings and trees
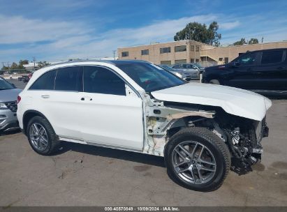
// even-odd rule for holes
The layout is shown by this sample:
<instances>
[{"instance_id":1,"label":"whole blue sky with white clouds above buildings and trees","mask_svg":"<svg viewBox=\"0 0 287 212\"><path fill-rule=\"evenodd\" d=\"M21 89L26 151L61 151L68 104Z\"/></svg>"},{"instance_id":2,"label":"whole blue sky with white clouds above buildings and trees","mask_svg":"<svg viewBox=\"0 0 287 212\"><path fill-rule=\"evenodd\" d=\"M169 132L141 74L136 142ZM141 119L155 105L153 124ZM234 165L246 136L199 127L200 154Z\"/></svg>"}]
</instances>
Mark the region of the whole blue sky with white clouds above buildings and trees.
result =
<instances>
[{"instance_id":1,"label":"whole blue sky with white clouds above buildings and trees","mask_svg":"<svg viewBox=\"0 0 287 212\"><path fill-rule=\"evenodd\" d=\"M172 41L189 22L218 22L222 45L287 40L286 11L286 0L0 0L0 67L113 56Z\"/></svg>"}]
</instances>

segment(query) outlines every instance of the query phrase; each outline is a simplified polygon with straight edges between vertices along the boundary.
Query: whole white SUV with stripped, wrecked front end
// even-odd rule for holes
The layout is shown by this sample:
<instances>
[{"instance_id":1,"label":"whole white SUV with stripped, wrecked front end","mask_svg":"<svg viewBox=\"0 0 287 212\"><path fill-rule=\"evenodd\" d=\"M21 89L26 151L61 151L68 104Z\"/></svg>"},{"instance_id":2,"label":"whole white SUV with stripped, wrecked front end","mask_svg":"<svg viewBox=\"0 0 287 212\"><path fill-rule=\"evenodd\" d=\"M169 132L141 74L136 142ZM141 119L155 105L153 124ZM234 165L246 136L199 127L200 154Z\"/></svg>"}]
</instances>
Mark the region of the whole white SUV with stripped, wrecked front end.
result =
<instances>
[{"instance_id":1,"label":"whole white SUV with stripped, wrecked front end","mask_svg":"<svg viewBox=\"0 0 287 212\"><path fill-rule=\"evenodd\" d=\"M41 155L66 141L161 156L177 183L209 191L230 167L244 174L260 160L270 107L257 93L187 83L146 61L87 60L37 70L17 117Z\"/></svg>"}]
</instances>

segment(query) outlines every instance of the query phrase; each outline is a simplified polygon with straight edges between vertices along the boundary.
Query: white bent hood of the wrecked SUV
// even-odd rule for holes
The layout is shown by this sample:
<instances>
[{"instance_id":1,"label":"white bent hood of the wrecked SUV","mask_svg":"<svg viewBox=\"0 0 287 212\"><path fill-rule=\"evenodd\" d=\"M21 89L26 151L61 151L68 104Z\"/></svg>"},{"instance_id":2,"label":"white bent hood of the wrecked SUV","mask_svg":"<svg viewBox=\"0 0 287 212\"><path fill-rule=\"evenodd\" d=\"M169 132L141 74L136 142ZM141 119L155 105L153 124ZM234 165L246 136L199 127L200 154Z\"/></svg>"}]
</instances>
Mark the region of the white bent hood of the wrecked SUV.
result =
<instances>
[{"instance_id":1,"label":"white bent hood of the wrecked SUV","mask_svg":"<svg viewBox=\"0 0 287 212\"><path fill-rule=\"evenodd\" d=\"M272 105L258 93L216 84L191 82L153 91L158 100L221 107L228 114L261 121Z\"/></svg>"}]
</instances>

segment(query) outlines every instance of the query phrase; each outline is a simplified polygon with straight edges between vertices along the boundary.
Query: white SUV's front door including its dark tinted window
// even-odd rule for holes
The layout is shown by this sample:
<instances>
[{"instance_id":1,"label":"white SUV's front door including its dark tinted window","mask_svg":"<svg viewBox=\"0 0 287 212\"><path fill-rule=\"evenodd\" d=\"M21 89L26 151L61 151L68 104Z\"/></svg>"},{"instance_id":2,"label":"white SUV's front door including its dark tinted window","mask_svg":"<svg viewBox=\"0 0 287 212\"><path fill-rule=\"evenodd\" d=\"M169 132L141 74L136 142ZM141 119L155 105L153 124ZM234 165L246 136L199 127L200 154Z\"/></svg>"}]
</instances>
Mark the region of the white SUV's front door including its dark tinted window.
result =
<instances>
[{"instance_id":1,"label":"white SUV's front door including its dark tinted window","mask_svg":"<svg viewBox=\"0 0 287 212\"><path fill-rule=\"evenodd\" d=\"M85 142L142 150L142 99L126 95L124 79L102 66L84 66L81 131Z\"/></svg>"}]
</instances>

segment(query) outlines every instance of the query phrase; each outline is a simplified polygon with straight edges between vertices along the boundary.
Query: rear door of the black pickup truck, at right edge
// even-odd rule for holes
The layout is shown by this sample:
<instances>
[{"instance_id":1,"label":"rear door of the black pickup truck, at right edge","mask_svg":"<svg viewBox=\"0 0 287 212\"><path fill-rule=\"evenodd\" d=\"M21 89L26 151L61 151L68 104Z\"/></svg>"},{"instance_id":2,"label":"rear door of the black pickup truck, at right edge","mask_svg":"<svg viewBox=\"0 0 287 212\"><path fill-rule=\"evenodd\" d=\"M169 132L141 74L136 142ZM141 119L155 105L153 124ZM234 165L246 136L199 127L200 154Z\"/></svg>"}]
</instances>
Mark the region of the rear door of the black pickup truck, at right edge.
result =
<instances>
[{"instance_id":1,"label":"rear door of the black pickup truck, at right edge","mask_svg":"<svg viewBox=\"0 0 287 212\"><path fill-rule=\"evenodd\" d=\"M260 90L287 90L286 50L264 50L258 70Z\"/></svg>"}]
</instances>

